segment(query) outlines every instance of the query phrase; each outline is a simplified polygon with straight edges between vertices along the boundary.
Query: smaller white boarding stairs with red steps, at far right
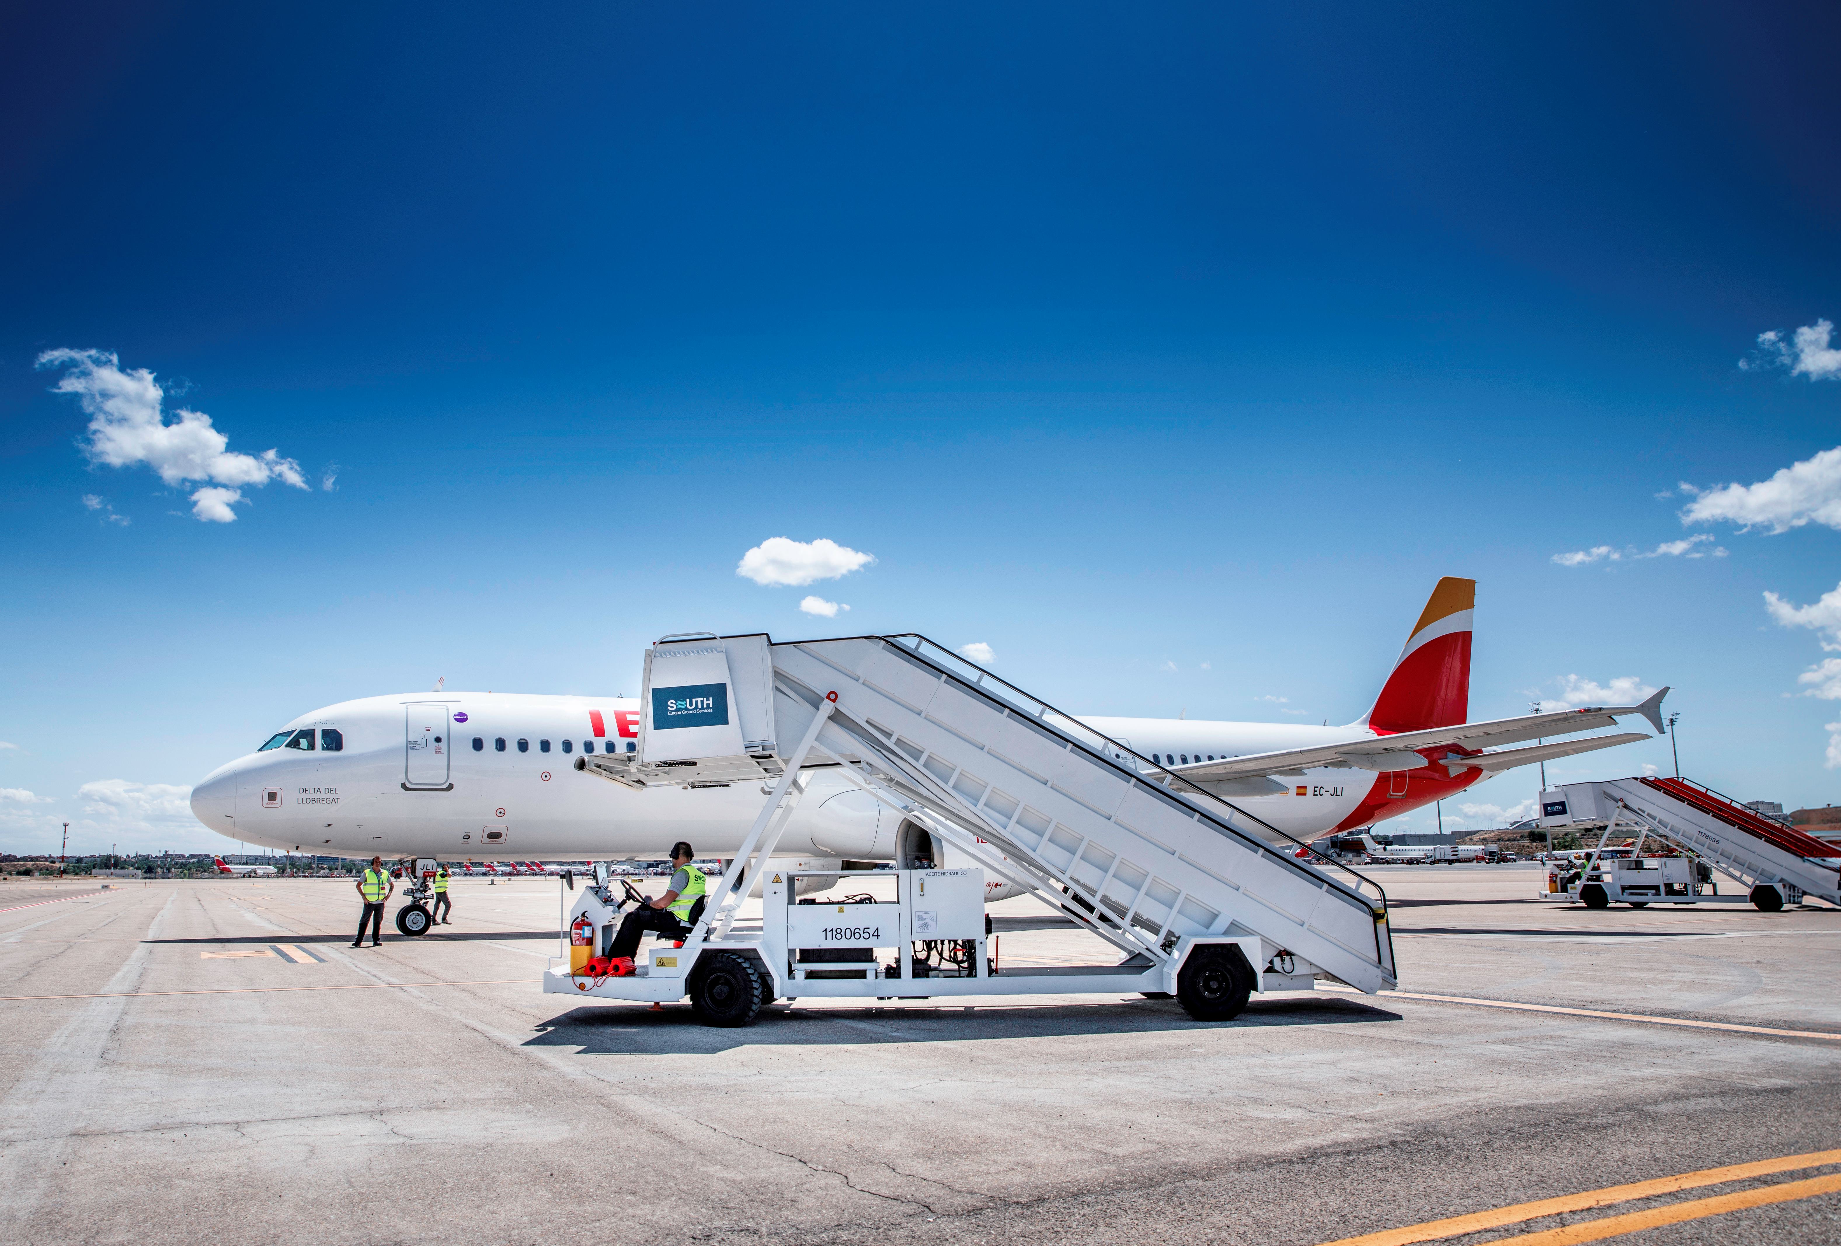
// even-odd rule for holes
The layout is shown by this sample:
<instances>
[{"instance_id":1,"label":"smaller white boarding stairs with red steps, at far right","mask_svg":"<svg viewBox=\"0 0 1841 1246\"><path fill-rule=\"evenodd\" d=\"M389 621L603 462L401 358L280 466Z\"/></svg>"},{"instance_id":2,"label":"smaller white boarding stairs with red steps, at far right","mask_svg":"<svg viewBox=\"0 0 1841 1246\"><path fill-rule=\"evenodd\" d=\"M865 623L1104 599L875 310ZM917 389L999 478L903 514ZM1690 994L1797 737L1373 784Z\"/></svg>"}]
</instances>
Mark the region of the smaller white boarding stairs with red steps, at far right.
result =
<instances>
[{"instance_id":1,"label":"smaller white boarding stairs with red steps, at far right","mask_svg":"<svg viewBox=\"0 0 1841 1246\"><path fill-rule=\"evenodd\" d=\"M1543 900L1611 904L1745 904L1775 913L1808 896L1841 907L1841 845L1762 817L1688 779L1611 779L1541 793L1541 825L1596 828L1598 848L1570 882L1550 874ZM1618 828L1635 830L1631 856L1605 856ZM1681 856L1644 858L1648 837ZM1740 887L1719 894L1714 872ZM1710 891L1708 891L1710 887Z\"/></svg>"}]
</instances>

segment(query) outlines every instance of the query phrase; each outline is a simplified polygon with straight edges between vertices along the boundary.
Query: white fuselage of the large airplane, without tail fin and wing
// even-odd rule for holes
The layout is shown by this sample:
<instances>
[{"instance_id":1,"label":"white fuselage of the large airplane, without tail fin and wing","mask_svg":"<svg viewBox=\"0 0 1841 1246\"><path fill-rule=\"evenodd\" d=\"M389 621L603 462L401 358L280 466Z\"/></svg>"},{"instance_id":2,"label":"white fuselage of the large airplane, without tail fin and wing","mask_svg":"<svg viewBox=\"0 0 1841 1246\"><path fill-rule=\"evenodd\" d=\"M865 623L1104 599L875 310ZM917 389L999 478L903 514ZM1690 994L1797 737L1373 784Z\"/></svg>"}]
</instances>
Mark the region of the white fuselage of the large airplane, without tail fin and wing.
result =
<instances>
[{"instance_id":1,"label":"white fuselage of the large airplane, without tail fin and wing","mask_svg":"<svg viewBox=\"0 0 1841 1246\"><path fill-rule=\"evenodd\" d=\"M1351 734L1349 727L1294 723L1086 721L1138 755L1175 766ZM633 699L503 692L365 698L304 714L261 751L212 771L193 790L191 808L226 837L328 856L620 860L661 856L677 839L701 856L740 848L762 804L753 784L635 791L574 769L584 753L626 753L637 736ZM1449 780L1443 767L1395 775L1313 769L1285 777L1283 795L1233 802L1307 839L1392 817L1475 779L1471 771ZM898 825L897 813L847 779L819 769L779 852L887 861Z\"/></svg>"}]
</instances>

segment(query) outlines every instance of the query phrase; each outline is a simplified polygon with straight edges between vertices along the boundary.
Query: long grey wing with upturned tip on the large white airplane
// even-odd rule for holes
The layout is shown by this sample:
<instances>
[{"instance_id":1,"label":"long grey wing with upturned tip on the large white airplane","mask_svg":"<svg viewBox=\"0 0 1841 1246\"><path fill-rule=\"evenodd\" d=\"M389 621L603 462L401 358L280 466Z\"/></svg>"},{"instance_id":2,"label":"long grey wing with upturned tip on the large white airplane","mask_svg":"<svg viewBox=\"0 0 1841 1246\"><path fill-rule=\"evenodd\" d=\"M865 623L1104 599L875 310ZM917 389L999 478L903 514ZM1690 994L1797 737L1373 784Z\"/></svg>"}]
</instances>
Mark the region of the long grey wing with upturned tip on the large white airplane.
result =
<instances>
[{"instance_id":1,"label":"long grey wing with upturned tip on the large white airplane","mask_svg":"<svg viewBox=\"0 0 1841 1246\"><path fill-rule=\"evenodd\" d=\"M1589 753L1607 749L1613 744L1648 740L1642 734L1600 736L1594 740L1576 740L1570 744L1537 745L1532 749L1508 749L1499 753L1478 753L1489 745L1519 744L1543 736L1570 736L1580 731L1613 727L1618 718L1642 714L1662 731L1662 688L1640 705L1589 705L1550 714L1523 714L1519 718L1499 718L1486 723L1460 723L1456 727L1432 727L1427 731L1401 731L1390 736L1351 736L1337 744L1318 744L1307 749L1283 749L1278 753L1250 753L1230 756L1221 762L1195 762L1189 766L1171 766L1169 773L1191 782L1226 782L1233 779L1261 779L1270 775L1302 775L1316 767L1355 767L1372 771L1418 769L1427 766L1423 753L1432 749L1453 749L1434 760L1456 775L1462 769L1508 769L1552 756ZM1561 751L1554 751L1561 749ZM1513 758L1513 760L1511 760Z\"/></svg>"}]
</instances>

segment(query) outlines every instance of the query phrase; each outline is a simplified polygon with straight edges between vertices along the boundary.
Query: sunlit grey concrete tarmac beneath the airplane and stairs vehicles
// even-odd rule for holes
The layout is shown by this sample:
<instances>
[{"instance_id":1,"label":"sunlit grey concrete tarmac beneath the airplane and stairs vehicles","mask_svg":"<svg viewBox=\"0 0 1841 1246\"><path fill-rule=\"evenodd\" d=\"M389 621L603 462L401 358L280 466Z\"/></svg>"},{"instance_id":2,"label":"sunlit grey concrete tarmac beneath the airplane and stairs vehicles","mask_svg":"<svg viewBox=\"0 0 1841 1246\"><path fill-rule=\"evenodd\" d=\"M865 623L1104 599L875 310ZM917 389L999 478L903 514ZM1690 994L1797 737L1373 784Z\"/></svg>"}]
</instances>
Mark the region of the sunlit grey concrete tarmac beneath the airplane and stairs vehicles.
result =
<instances>
[{"instance_id":1,"label":"sunlit grey concrete tarmac beneath the airplane and stairs vehicles","mask_svg":"<svg viewBox=\"0 0 1841 1246\"><path fill-rule=\"evenodd\" d=\"M1370 872L1403 992L1626 1016L1316 992L1200 1025L1064 996L718 1031L543 996L556 882L458 880L453 926L381 948L348 946L350 882L4 883L0 1237L1283 1246L1841 1148L1841 913L1592 913L1534 900L1530 867ZM1099 957L1018 926L1007 964ZM1841 1242L1841 1193L1627 1240Z\"/></svg>"}]
</instances>

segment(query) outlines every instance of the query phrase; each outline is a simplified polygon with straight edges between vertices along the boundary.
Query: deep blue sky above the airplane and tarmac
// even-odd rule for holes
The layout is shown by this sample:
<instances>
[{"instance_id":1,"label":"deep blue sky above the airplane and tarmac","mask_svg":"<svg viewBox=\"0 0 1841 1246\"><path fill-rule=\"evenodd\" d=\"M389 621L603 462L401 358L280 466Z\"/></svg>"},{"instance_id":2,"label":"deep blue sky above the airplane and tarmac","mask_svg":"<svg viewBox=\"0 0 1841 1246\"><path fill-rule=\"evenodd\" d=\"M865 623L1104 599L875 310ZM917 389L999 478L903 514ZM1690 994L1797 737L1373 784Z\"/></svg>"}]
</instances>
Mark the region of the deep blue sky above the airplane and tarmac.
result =
<instances>
[{"instance_id":1,"label":"deep blue sky above the airplane and tarmac","mask_svg":"<svg viewBox=\"0 0 1841 1246\"><path fill-rule=\"evenodd\" d=\"M215 847L184 788L295 714L631 692L692 628L1348 721L1442 574L1475 716L1666 683L1685 773L1837 801L1837 39L1815 4L9 18L0 848ZM98 438L57 350L151 370L166 423ZM1745 488L1686 523L1681 482ZM874 563L736 576L777 536Z\"/></svg>"}]
</instances>

